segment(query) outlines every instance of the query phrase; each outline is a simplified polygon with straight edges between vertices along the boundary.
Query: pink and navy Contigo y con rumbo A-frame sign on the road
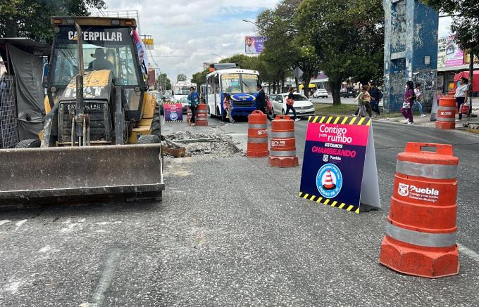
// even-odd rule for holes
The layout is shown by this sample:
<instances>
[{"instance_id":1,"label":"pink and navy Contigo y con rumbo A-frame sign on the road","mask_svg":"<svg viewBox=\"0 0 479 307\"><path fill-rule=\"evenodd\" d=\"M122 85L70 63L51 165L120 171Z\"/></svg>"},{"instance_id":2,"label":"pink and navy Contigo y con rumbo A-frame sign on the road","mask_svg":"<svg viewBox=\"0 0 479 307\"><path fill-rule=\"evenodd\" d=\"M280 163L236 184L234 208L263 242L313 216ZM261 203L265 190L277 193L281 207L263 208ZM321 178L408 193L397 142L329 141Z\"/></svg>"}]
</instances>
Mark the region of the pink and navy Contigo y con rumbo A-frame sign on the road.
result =
<instances>
[{"instance_id":1,"label":"pink and navy Contigo y con rumbo A-frame sign on the road","mask_svg":"<svg viewBox=\"0 0 479 307\"><path fill-rule=\"evenodd\" d=\"M299 196L355 213L380 207L371 119L309 118Z\"/></svg>"}]
</instances>

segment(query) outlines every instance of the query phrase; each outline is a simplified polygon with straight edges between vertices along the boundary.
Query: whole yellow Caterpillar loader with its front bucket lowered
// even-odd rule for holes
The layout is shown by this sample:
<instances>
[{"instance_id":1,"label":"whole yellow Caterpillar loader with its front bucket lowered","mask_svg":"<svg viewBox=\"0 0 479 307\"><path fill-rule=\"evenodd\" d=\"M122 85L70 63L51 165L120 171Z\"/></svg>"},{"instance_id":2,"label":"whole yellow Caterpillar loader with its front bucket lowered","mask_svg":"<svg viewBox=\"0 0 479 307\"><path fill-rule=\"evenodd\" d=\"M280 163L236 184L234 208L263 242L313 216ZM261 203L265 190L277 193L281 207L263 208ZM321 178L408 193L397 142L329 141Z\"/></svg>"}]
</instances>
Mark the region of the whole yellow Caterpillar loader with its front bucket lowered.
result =
<instances>
[{"instance_id":1,"label":"whole yellow Caterpillar loader with its front bucket lowered","mask_svg":"<svg viewBox=\"0 0 479 307\"><path fill-rule=\"evenodd\" d=\"M159 108L146 93L135 19L51 25L44 129L0 150L0 204L161 199Z\"/></svg>"}]
</instances>

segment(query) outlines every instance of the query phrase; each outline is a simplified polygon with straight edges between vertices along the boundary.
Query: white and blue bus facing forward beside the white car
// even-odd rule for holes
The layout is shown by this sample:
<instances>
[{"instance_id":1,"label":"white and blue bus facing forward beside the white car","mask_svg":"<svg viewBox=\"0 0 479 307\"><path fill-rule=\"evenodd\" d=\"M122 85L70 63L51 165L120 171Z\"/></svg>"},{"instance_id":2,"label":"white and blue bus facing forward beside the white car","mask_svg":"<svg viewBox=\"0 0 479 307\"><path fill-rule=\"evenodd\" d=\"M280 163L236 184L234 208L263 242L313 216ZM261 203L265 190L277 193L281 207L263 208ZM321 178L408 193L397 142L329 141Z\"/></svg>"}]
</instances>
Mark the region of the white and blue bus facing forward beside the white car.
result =
<instances>
[{"instance_id":1,"label":"white and blue bus facing forward beside the white car","mask_svg":"<svg viewBox=\"0 0 479 307\"><path fill-rule=\"evenodd\" d=\"M225 118L223 98L230 94L233 104L233 116L249 115L256 110L256 85L259 73L256 70L228 68L216 70L206 76L204 98L211 117Z\"/></svg>"}]
</instances>

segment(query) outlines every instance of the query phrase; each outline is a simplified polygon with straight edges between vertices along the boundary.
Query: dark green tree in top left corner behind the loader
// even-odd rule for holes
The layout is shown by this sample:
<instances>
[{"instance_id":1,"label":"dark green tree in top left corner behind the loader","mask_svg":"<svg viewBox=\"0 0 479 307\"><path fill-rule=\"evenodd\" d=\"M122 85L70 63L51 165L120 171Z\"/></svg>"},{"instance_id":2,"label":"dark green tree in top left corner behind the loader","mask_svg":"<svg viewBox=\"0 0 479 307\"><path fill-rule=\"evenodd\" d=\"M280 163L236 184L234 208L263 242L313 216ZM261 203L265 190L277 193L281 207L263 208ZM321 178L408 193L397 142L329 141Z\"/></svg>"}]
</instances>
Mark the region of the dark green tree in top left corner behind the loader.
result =
<instances>
[{"instance_id":1,"label":"dark green tree in top left corner behind the loader","mask_svg":"<svg viewBox=\"0 0 479 307\"><path fill-rule=\"evenodd\" d=\"M0 37L30 37L51 43L51 16L86 16L103 0L11 0L0 2Z\"/></svg>"}]
</instances>

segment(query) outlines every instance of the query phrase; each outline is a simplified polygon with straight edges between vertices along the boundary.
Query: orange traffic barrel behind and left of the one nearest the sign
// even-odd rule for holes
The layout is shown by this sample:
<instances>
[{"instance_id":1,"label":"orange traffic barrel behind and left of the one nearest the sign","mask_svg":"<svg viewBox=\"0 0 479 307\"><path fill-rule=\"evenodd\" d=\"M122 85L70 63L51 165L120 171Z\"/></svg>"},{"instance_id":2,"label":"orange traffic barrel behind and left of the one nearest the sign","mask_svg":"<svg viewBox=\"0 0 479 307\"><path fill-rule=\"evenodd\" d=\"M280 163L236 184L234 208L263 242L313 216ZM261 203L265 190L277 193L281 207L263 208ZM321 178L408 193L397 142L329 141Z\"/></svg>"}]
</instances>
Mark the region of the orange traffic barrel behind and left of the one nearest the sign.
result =
<instances>
[{"instance_id":1,"label":"orange traffic barrel behind and left of the one nearest the sign","mask_svg":"<svg viewBox=\"0 0 479 307\"><path fill-rule=\"evenodd\" d=\"M248 147L246 156L251 158L269 156L266 114L259 110L255 110L248 115Z\"/></svg>"}]
</instances>

